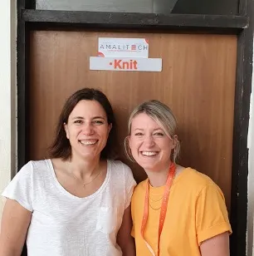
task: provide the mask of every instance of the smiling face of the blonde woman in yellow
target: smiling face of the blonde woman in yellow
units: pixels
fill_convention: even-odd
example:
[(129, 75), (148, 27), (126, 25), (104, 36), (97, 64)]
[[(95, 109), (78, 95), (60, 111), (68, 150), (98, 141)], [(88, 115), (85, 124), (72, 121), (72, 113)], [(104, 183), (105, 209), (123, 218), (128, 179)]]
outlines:
[(131, 123), (129, 147), (134, 160), (145, 171), (160, 171), (169, 168), (175, 142), (154, 119), (140, 113)]

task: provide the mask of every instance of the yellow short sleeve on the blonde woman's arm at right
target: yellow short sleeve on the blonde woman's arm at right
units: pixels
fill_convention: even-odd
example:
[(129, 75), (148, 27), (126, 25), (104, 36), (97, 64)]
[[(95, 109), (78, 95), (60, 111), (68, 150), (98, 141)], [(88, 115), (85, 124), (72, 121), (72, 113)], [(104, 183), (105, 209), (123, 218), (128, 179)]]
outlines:
[(198, 245), (218, 234), (232, 233), (222, 191), (217, 185), (208, 185), (198, 194), (196, 204)]

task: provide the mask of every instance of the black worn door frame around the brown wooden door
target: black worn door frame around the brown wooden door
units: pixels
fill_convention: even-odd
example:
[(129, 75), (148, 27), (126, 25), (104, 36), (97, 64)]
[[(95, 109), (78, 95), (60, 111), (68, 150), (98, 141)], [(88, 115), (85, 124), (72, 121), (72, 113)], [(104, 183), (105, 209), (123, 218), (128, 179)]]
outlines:
[(253, 3), (239, 0), (239, 15), (153, 14), (36, 10), (35, 0), (17, 1), (17, 167), (27, 163), (29, 99), (29, 33), (33, 30), (79, 28), (149, 29), (237, 35), (237, 73), (232, 145), (231, 255), (246, 255), (247, 176), (250, 99), (252, 91)]

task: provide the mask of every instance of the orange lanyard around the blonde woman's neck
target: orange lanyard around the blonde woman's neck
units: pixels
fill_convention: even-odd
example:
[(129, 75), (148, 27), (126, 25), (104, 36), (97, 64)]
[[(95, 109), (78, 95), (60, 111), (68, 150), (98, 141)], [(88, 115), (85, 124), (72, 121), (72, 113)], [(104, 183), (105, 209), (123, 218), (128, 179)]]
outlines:
[[(175, 169), (176, 169), (175, 164), (172, 163), (169, 167), (169, 175), (167, 178), (166, 187), (164, 190), (164, 196), (163, 196), (160, 214), (159, 214), (158, 256), (159, 256), (160, 235), (161, 235), (162, 229), (164, 228), (164, 221), (166, 218), (168, 201), (169, 201), (169, 192), (170, 192), (171, 185), (173, 183)], [(147, 187), (146, 187), (146, 192), (145, 192), (144, 214), (143, 214), (143, 219), (142, 219), (142, 224), (141, 224), (141, 236), (143, 239), (144, 239), (144, 229), (145, 229), (145, 225), (147, 224), (148, 216), (149, 216), (149, 180), (147, 182)], [(153, 256), (155, 256), (156, 254), (154, 253), (154, 250), (152, 249), (152, 247), (148, 244), (148, 242), (145, 239), (144, 239), (144, 242), (145, 242), (146, 246), (148, 247), (149, 251), (151, 252), (151, 254)]]

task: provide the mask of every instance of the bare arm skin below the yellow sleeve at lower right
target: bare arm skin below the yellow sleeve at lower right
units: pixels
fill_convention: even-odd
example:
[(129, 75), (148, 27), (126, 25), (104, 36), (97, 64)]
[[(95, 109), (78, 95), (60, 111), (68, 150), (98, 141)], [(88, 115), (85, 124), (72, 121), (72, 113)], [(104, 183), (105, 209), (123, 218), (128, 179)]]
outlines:
[(224, 232), (211, 239), (203, 241), (200, 245), (202, 256), (229, 256), (229, 234)]

